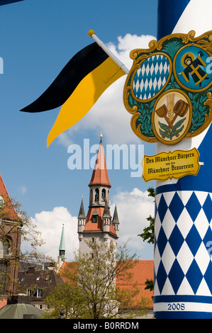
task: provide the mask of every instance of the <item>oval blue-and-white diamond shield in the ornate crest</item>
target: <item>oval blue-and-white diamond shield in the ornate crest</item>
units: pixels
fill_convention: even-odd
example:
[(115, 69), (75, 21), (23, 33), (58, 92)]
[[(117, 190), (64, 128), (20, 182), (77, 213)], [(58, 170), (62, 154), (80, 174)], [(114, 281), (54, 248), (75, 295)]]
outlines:
[(147, 100), (155, 96), (166, 84), (170, 64), (164, 55), (152, 55), (135, 72), (133, 92), (135, 97)]

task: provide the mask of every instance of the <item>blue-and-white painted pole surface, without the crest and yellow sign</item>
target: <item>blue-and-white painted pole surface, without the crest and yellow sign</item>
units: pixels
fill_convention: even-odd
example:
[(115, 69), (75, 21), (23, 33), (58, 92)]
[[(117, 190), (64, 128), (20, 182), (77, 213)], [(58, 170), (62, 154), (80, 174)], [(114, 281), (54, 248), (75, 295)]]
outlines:
[[(159, 0), (157, 39), (171, 33), (187, 34), (191, 30), (198, 37), (212, 30), (211, 16), (212, 3), (208, 0)], [(210, 57), (207, 61), (211, 62)], [(208, 66), (208, 77), (210, 71)], [(201, 112), (200, 104), (197, 115)], [(194, 113), (194, 103), (192, 107)], [(174, 146), (184, 151), (198, 149), (203, 166), (196, 176), (156, 181), (156, 318), (212, 318), (211, 142), (209, 125), (199, 135), (183, 139)], [(157, 153), (169, 149), (170, 146), (157, 143)]]

